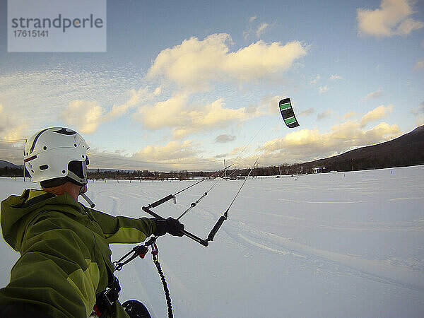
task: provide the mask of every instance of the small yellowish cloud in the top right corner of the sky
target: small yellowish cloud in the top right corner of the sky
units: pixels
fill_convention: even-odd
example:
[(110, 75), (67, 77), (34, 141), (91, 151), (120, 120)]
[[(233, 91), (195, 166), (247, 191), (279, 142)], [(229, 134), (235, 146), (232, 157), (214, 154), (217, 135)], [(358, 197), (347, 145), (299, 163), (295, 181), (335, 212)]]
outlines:
[(413, 30), (424, 27), (423, 21), (410, 16), (415, 13), (411, 0), (382, 0), (375, 10), (357, 9), (358, 32), (360, 35), (391, 37), (409, 35)]

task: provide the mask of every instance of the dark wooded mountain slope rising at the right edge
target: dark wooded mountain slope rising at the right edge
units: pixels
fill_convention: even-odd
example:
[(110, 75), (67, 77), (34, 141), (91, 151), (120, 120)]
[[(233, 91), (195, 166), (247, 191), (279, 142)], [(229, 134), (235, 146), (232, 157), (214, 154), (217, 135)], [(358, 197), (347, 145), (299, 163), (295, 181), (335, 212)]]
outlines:
[(367, 170), (424, 164), (424, 126), (391, 141), (348, 151), (334, 157), (302, 163), (304, 168), (324, 170)]

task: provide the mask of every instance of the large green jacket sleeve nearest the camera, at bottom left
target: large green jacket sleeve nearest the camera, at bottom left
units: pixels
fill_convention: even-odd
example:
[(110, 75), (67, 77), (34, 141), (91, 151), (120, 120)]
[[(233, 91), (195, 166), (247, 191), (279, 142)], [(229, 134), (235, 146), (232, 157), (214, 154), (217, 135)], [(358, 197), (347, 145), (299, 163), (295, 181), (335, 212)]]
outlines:
[(93, 244), (63, 216), (36, 220), (25, 232), (10, 283), (0, 290), (0, 307), (30, 305), (45, 317), (88, 317), (100, 280), (90, 258)]

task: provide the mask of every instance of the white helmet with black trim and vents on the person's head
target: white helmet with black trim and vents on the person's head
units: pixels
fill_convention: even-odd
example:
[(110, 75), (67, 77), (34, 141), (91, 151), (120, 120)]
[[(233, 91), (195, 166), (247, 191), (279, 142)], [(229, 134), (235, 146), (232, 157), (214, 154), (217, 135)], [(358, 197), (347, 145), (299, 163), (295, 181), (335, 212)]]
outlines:
[(25, 143), (23, 162), (33, 182), (54, 179), (57, 182), (53, 185), (65, 180), (84, 185), (87, 183), (88, 148), (83, 137), (72, 129), (47, 128)]

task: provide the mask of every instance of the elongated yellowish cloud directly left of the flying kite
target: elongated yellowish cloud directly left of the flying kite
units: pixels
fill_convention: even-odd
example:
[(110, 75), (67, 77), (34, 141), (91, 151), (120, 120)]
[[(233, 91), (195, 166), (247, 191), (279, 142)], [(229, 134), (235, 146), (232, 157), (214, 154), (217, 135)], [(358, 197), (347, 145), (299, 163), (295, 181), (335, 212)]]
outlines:
[(234, 122), (242, 122), (261, 114), (255, 107), (225, 107), (223, 98), (206, 105), (197, 105), (189, 101), (189, 93), (177, 93), (163, 102), (156, 102), (155, 105), (139, 107), (134, 119), (143, 122), (144, 126), (151, 130), (171, 128), (173, 137), (182, 139), (187, 134), (217, 127), (224, 128)]

